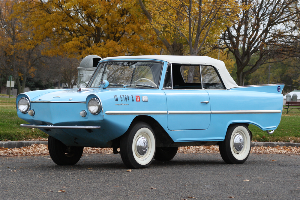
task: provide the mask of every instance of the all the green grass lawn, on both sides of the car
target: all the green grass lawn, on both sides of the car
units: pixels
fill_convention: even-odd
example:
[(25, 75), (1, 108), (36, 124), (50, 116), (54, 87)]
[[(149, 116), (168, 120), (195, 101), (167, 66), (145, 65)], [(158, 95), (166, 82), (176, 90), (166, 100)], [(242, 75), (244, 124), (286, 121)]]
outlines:
[[(26, 140), (38, 137), (47, 138), (48, 135), (41, 130), (22, 128), (20, 124), (26, 124), (26, 121), (20, 119), (16, 114), (16, 99), (0, 98), (0, 139), (1, 140)], [(272, 135), (262, 131), (254, 125), (249, 125), (249, 130), (253, 134), (253, 141), (258, 142), (300, 142), (300, 111), (292, 109), (286, 114), (283, 110), (280, 124)]]

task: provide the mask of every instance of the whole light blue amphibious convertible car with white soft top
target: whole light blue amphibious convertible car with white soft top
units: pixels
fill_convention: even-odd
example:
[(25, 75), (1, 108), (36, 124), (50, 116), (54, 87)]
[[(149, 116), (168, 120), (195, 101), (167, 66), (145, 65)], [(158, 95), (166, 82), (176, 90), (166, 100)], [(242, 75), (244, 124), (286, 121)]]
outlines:
[[(219, 145), (228, 164), (244, 163), (249, 124), (274, 130), (283, 84), (239, 87), (222, 61), (206, 56), (104, 58), (87, 86), (19, 94), (18, 116), (49, 135), (58, 165), (83, 147), (111, 147), (131, 169), (171, 160), (180, 146)], [(120, 148), (120, 151), (117, 151)]]

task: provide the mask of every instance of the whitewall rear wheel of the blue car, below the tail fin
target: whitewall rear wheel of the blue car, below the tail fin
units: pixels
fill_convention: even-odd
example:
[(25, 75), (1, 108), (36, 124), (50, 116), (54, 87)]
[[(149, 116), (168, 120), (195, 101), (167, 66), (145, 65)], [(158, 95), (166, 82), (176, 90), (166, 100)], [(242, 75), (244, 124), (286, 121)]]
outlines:
[(219, 150), (225, 163), (244, 163), (251, 150), (251, 136), (248, 127), (244, 124), (230, 125), (225, 140), (219, 142)]

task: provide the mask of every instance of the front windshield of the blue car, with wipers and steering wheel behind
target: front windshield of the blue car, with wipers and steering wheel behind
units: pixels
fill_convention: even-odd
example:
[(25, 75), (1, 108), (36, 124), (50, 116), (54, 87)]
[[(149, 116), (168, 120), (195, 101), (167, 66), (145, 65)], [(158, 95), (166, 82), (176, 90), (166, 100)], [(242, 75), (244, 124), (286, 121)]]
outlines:
[(101, 63), (87, 87), (99, 87), (101, 80), (108, 87), (158, 88), (163, 63), (151, 61), (111, 61)]

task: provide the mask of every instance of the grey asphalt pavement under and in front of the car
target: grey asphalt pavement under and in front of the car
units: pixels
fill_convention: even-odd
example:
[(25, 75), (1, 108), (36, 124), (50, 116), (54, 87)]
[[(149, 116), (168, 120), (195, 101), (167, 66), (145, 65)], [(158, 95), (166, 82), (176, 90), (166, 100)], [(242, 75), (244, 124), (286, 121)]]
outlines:
[(228, 165), (220, 154), (177, 154), (131, 172), (119, 154), (83, 154), (74, 166), (50, 156), (1, 157), (0, 169), (3, 200), (300, 199), (299, 155), (250, 154)]

